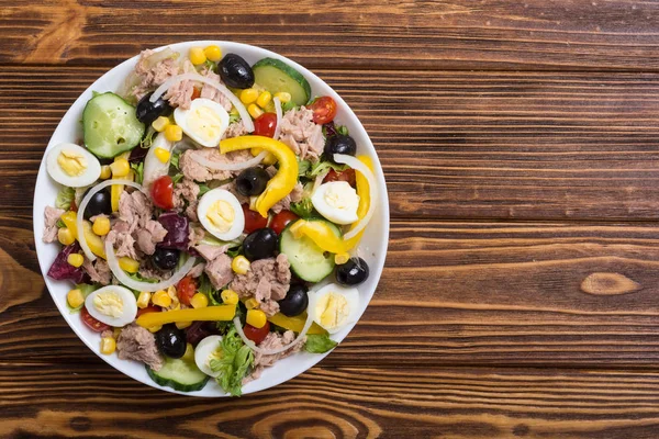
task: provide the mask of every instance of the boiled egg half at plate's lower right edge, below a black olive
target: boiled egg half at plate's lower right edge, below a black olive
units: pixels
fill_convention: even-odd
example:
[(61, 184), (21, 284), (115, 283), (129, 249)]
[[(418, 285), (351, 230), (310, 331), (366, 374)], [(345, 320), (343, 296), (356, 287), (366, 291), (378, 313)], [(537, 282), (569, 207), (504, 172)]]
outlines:
[(327, 333), (338, 333), (347, 325), (357, 322), (359, 315), (359, 292), (331, 283), (310, 294), (308, 312), (313, 320)]

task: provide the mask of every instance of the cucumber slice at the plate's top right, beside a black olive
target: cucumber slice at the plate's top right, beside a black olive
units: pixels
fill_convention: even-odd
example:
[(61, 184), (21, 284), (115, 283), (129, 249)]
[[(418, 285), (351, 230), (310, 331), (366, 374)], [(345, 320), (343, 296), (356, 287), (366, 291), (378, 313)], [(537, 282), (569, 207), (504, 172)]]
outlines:
[(275, 58), (264, 58), (252, 66), (255, 82), (270, 93), (291, 93), (297, 105), (304, 105), (311, 98), (311, 86), (304, 77), (288, 64)]

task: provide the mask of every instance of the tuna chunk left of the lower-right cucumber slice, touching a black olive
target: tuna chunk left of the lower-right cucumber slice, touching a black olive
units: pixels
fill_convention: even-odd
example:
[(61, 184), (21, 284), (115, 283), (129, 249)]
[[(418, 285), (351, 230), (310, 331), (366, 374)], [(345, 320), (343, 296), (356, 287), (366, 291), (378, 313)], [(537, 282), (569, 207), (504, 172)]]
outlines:
[(277, 258), (252, 262), (246, 274), (235, 277), (231, 289), (241, 297), (254, 296), (260, 303), (260, 309), (271, 317), (279, 312), (277, 301), (286, 297), (290, 283), (290, 264), (287, 256), (281, 254)]

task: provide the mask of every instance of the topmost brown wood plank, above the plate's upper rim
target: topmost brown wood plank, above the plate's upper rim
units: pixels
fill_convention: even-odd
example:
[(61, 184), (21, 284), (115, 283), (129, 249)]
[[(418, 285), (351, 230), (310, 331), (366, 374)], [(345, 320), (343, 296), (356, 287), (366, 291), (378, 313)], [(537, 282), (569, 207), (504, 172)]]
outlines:
[[(358, 12), (356, 12), (358, 11)], [(659, 68), (651, 1), (48, 0), (2, 8), (0, 63), (114, 65), (190, 40), (263, 46), (312, 68)], [(255, 32), (258, 23), (258, 32)]]

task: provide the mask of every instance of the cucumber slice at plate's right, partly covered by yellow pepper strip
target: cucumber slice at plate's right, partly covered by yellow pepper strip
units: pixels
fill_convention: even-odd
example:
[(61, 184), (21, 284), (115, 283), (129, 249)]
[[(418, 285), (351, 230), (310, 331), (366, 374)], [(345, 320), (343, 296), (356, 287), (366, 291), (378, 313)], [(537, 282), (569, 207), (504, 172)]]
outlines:
[[(323, 221), (336, 232), (336, 236), (340, 236), (338, 227), (333, 223), (324, 219), (310, 221)], [(334, 271), (334, 254), (326, 254), (306, 236), (295, 239), (290, 230), (293, 224), (289, 223), (281, 233), (279, 251), (288, 257), (291, 270), (298, 278), (308, 282), (320, 282)]]

